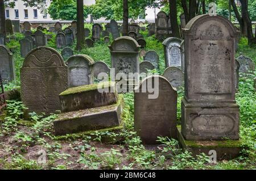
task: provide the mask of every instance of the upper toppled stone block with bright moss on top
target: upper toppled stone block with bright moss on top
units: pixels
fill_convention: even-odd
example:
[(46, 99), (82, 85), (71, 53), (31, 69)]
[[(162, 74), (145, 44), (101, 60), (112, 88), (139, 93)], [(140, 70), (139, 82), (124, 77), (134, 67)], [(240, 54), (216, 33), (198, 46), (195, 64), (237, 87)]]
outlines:
[(102, 82), (69, 88), (59, 98), (62, 111), (70, 112), (115, 104), (118, 94), (115, 82)]

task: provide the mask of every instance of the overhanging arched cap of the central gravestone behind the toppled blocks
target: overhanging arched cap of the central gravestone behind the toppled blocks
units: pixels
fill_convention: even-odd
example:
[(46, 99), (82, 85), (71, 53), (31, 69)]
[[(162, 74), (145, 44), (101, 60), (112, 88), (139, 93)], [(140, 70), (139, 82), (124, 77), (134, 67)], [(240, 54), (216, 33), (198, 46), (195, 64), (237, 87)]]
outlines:
[(129, 36), (121, 36), (115, 39), (109, 46), (111, 52), (139, 52), (141, 46)]

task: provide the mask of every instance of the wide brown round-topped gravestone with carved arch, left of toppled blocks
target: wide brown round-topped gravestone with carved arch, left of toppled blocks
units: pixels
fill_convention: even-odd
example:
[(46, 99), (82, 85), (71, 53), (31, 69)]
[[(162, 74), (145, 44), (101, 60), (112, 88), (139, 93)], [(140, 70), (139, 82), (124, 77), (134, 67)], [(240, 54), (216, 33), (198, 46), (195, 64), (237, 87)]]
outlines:
[(52, 113), (61, 110), (59, 94), (68, 88), (68, 69), (55, 49), (38, 47), (27, 54), (20, 82), (28, 112)]

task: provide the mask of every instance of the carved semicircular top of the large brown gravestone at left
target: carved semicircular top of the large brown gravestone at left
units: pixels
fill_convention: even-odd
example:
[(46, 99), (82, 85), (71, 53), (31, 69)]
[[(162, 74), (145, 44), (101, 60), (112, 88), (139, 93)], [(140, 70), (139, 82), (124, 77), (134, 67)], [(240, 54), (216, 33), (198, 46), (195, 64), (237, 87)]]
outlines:
[(32, 49), (23, 62), (22, 68), (46, 67), (46, 66), (66, 66), (63, 58), (53, 48), (38, 47)]

